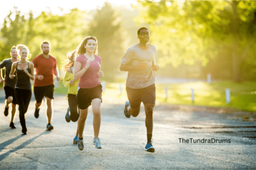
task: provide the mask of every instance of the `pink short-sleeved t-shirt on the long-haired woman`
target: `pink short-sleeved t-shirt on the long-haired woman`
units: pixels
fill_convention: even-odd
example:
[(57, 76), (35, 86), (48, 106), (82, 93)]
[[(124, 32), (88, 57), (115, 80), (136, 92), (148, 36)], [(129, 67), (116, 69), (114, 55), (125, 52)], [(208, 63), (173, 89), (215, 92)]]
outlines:
[[(98, 71), (101, 70), (101, 57), (94, 55), (94, 61), (90, 62), (90, 67), (86, 70), (85, 74), (80, 77), (79, 87), (80, 88), (93, 88), (100, 84), (98, 79)], [(81, 63), (81, 69), (85, 67), (88, 59), (82, 54), (76, 58), (76, 62)]]

